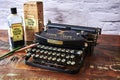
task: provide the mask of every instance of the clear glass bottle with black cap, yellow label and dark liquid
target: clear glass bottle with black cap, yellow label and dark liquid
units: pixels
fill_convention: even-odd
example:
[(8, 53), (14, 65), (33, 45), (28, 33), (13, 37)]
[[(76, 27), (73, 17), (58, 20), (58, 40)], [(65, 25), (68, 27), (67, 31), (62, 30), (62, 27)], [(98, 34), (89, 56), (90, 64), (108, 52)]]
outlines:
[(10, 50), (24, 46), (23, 20), (22, 17), (17, 14), (17, 8), (11, 8), (11, 14), (8, 16), (7, 21), (9, 26), (8, 36)]

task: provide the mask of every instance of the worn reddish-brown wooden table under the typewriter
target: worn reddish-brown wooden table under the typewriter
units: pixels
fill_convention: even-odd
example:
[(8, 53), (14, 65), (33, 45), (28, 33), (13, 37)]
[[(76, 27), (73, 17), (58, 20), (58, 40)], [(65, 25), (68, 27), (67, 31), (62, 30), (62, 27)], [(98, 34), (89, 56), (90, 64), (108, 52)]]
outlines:
[[(8, 42), (7, 31), (0, 31), (0, 40)], [(0, 80), (120, 80), (120, 36), (100, 35), (98, 43), (78, 74), (27, 66), (22, 51), (0, 61)], [(0, 54), (6, 52), (8, 50), (0, 50)], [(17, 60), (11, 61), (13, 57)]]

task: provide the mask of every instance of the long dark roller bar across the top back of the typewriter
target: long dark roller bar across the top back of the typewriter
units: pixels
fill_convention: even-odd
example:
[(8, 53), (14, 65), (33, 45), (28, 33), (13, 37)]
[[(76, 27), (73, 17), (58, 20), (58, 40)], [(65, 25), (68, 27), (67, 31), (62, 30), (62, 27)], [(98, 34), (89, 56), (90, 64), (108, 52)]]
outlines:
[(75, 30), (75, 31), (84, 31), (92, 34), (101, 34), (101, 28), (95, 27), (86, 27), (86, 26), (75, 26), (75, 25), (67, 25), (67, 24), (58, 24), (58, 23), (51, 23), (47, 24), (48, 28), (57, 28), (63, 30)]

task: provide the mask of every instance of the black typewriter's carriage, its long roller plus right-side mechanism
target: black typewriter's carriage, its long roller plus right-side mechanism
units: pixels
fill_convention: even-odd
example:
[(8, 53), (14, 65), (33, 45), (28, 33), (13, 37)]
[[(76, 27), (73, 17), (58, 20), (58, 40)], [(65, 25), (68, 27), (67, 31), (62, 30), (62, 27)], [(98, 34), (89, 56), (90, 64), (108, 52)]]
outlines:
[(76, 26), (67, 24), (52, 23), (50, 20), (47, 24), (47, 29), (57, 28), (60, 30), (75, 30), (80, 33), (80, 35), (85, 39), (87, 47), (85, 49), (86, 56), (93, 55), (94, 46), (97, 45), (98, 36), (101, 34), (101, 28), (86, 27), (86, 26)]

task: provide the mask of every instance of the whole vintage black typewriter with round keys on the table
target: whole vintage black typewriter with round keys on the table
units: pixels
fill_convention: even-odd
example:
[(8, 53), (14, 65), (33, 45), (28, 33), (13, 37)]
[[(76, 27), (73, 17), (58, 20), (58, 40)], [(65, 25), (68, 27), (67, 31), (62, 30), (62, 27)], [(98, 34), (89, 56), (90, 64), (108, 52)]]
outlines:
[(93, 54), (100, 28), (49, 22), (47, 30), (35, 34), (36, 46), (26, 50), (27, 65), (78, 73), (86, 56)]

